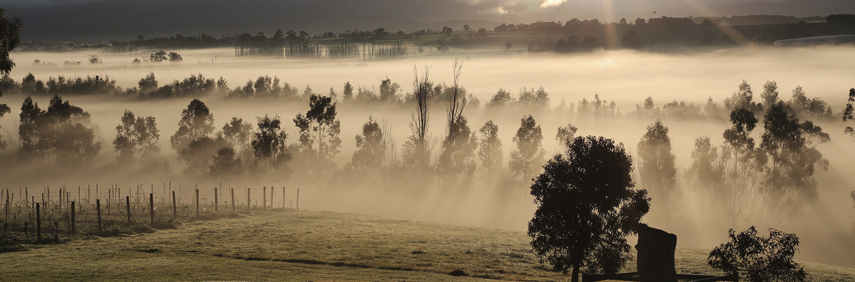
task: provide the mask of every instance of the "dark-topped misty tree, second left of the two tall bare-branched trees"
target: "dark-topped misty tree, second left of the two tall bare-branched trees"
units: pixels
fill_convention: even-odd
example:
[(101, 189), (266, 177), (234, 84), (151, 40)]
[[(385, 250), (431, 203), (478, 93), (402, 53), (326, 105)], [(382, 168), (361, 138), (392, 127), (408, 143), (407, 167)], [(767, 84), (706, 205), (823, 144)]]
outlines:
[(330, 97), (312, 94), (309, 108), (305, 115), (294, 118), (300, 130), (300, 148), (320, 160), (331, 161), (341, 147), (341, 121), (336, 119), (335, 103)]

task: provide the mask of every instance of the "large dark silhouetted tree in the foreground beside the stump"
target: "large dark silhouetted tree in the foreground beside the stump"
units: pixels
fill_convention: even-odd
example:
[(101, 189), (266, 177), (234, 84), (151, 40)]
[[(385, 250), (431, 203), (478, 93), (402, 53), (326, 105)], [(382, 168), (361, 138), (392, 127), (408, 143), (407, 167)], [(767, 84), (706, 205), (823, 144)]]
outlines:
[(535, 254), (563, 273), (582, 267), (617, 273), (628, 260), (627, 236), (637, 232), (650, 209), (647, 191), (634, 189), (632, 161), (622, 144), (602, 137), (577, 137), (534, 179), (537, 209), (528, 222)]

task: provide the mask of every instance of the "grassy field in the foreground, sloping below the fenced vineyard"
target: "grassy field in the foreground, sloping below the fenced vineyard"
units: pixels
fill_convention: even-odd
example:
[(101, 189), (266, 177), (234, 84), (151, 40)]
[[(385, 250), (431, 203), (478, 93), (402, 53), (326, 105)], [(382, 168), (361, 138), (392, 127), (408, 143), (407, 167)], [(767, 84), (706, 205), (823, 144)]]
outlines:
[[(363, 214), (286, 211), (199, 220), (177, 229), (79, 238), (0, 255), (0, 280), (566, 280), (510, 232)], [(709, 250), (678, 248), (678, 273), (718, 274)], [(810, 281), (855, 269), (802, 262)], [(631, 261), (627, 271), (632, 271)], [(463, 274), (452, 276), (451, 273)]]

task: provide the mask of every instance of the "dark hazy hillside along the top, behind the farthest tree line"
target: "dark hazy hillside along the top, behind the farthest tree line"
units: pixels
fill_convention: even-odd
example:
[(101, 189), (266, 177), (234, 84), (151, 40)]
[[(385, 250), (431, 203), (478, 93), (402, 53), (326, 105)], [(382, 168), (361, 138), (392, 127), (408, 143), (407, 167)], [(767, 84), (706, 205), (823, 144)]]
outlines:
[[(720, 4), (701, 1), (710, 10), (699, 11), (680, 0), (614, 0), (615, 19), (636, 17), (793, 15), (826, 16), (855, 14), (852, 0), (741, 1)], [(359, 28), (415, 32), (425, 28), (455, 30), (500, 23), (568, 21), (572, 18), (605, 21), (603, 6), (596, 2), (568, 1), (557, 8), (498, 14), (486, 10), (489, 3), (470, 0), (0, 0), (6, 15), (24, 20), (21, 37), (39, 41), (133, 40), (178, 33), (196, 35), (244, 32), (273, 33), (276, 29), (344, 32)], [(653, 14), (653, 11), (658, 11)]]

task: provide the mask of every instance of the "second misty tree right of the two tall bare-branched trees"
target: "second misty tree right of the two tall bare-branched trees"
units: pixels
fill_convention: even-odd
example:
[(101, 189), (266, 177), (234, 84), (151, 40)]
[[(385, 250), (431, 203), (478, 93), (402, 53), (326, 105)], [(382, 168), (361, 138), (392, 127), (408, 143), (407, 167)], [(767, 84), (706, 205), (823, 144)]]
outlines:
[(516, 130), (514, 143), (516, 150), (510, 152), (510, 175), (514, 179), (528, 181), (536, 175), (543, 162), (546, 151), (543, 150), (543, 132), (531, 115), (520, 120), (520, 128)]

